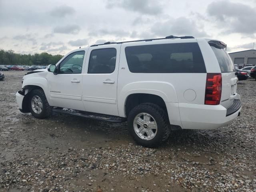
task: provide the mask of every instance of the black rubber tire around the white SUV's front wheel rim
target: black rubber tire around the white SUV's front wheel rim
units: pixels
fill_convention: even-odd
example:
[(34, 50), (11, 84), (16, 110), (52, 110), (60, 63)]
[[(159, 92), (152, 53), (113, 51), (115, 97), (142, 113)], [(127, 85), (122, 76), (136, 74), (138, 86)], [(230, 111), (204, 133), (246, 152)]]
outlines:
[[(40, 112), (40, 114), (35, 113), (32, 109), (31, 100), (33, 96), (38, 96), (42, 100), (42, 112)], [(32, 116), (34, 116), (35, 118), (45, 119), (52, 115), (52, 106), (48, 104), (44, 91), (41, 89), (32, 90), (30, 92), (30, 99), (28, 104), (29, 104), (30, 112)]]

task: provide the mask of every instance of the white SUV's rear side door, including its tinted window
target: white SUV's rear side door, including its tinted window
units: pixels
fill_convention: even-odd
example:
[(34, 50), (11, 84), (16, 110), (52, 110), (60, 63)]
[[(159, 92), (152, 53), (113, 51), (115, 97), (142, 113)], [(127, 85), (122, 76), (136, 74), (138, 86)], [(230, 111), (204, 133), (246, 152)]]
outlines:
[(90, 47), (83, 74), (83, 102), (86, 111), (118, 116), (117, 76), (120, 44)]

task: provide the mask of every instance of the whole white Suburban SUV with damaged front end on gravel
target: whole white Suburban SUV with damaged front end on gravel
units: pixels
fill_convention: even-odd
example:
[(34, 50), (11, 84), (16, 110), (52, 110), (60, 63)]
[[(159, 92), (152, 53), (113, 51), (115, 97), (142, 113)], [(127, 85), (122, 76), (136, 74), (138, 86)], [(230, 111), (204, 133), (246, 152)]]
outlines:
[(55, 111), (127, 120), (134, 140), (153, 147), (170, 130), (216, 129), (240, 115), (238, 79), (224, 48), (191, 36), (92, 45), (28, 72), (16, 99), (35, 118)]

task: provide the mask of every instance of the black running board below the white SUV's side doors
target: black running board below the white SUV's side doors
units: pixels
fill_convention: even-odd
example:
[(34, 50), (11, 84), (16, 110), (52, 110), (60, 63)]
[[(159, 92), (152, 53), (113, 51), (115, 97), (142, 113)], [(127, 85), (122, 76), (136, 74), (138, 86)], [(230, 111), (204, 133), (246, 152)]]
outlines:
[(126, 118), (122, 118), (118, 116), (97, 114), (92, 112), (80, 112), (80, 111), (70, 110), (70, 109), (64, 110), (62, 108), (53, 108), (52, 111), (57, 113), (64, 113), (64, 114), (75, 115), (75, 116), (80, 116), (80, 117), (85, 117), (85, 118), (90, 118), (90, 119), (95, 119), (100, 121), (107, 121), (112, 123), (122, 123), (126, 121)]

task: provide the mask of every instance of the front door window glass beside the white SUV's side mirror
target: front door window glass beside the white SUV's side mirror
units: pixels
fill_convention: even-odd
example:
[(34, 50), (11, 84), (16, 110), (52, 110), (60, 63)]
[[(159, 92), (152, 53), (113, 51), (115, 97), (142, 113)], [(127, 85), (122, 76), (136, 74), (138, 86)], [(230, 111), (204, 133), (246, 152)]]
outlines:
[(60, 74), (79, 74), (82, 73), (85, 51), (78, 51), (68, 55), (60, 63)]

